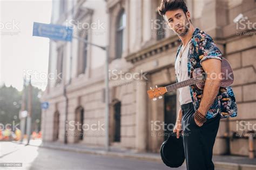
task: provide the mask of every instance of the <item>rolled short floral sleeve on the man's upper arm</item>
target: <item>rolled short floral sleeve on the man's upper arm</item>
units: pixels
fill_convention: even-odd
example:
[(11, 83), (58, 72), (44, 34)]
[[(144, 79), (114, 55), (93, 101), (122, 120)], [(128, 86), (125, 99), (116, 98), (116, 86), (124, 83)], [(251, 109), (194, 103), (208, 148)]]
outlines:
[(201, 40), (199, 54), (200, 64), (209, 58), (222, 59), (221, 52), (211, 37), (205, 37)]

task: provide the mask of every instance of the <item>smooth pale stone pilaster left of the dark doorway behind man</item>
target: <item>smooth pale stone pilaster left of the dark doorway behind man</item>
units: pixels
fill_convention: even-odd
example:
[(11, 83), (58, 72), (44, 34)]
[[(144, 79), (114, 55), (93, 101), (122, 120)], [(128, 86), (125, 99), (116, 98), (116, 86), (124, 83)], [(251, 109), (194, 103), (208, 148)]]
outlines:
[(138, 152), (146, 151), (146, 97), (147, 86), (144, 80), (137, 81), (136, 89), (136, 149)]

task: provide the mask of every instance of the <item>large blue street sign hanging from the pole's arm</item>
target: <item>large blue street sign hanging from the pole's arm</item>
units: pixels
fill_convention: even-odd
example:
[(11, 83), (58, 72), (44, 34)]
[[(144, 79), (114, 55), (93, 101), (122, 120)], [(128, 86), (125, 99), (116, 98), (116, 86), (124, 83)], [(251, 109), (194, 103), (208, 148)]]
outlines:
[(33, 23), (33, 36), (71, 42), (73, 29), (69, 26)]

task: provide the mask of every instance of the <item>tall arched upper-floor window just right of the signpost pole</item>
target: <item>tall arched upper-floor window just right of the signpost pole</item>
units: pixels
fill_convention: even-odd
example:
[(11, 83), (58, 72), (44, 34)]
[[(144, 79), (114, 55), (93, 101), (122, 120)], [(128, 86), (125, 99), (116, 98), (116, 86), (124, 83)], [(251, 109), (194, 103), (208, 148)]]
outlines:
[(117, 19), (117, 32), (116, 32), (116, 58), (121, 58), (125, 46), (125, 26), (126, 26), (126, 15), (124, 10), (120, 12)]

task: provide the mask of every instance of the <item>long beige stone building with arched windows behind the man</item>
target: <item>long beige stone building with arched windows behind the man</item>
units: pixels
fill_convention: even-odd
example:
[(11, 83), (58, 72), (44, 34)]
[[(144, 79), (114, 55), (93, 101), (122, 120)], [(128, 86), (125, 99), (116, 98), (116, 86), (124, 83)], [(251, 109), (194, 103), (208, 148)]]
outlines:
[[(256, 53), (256, 2), (186, 2), (193, 25), (212, 36), (231, 63), (235, 77), (232, 86), (238, 116), (221, 120), (214, 154), (248, 155), (248, 138), (236, 134), (248, 132), (247, 126), (246, 130), (240, 130), (242, 124), (256, 123), (253, 90), (256, 86), (256, 59), (253, 56)], [(64, 25), (74, 19), (78, 21), (74, 36), (98, 45), (109, 45), (109, 137), (112, 147), (159, 152), (168, 130), (156, 127), (163, 123), (174, 124), (177, 118), (178, 91), (169, 92), (157, 101), (149, 100), (146, 92), (155, 85), (176, 82), (174, 57), (180, 42), (158, 15), (159, 4), (157, 0), (53, 1), (53, 24)], [(237, 17), (240, 13), (252, 23), (251, 26), (244, 26), (242, 17)], [(233, 22), (236, 17), (240, 19), (238, 23)], [(104, 23), (104, 26), (81, 29), (80, 23)], [(42, 99), (50, 103), (49, 109), (42, 112), (44, 141), (65, 141), (65, 107), (69, 121), (97, 124), (97, 127), (104, 124), (105, 57), (104, 51), (77, 39), (72, 43), (50, 41), (49, 73), (57, 70), (57, 73), (62, 72), (62, 77), (53, 80), (53, 84), (49, 80)], [(84, 135), (70, 135), (75, 132)], [(79, 131), (76, 127), (68, 134), (68, 143), (104, 146), (105, 132), (101, 128)]]

